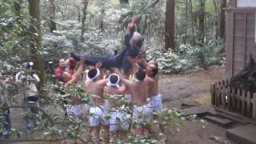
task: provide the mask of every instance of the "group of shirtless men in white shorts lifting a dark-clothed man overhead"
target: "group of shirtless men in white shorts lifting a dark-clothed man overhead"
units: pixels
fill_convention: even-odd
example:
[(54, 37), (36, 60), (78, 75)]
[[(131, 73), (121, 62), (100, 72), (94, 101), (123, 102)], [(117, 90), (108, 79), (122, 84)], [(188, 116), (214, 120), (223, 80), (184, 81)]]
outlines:
[[(135, 22), (137, 17), (132, 18), (132, 22), (128, 24), (127, 33), (125, 35), (126, 48), (118, 55), (110, 55), (107, 57), (92, 57), (87, 55), (78, 55), (71, 53), (68, 63), (72, 68), (75, 67), (74, 61), (80, 61), (76, 72), (65, 69), (65, 60), (61, 59), (58, 69), (55, 71), (59, 81), (65, 83), (65, 86), (76, 85), (79, 76), (84, 71), (84, 66), (89, 69), (84, 71), (83, 87), (86, 93), (95, 95), (90, 99), (93, 106), (86, 106), (90, 112), (90, 128), (94, 134), (94, 142), (99, 143), (99, 134), (101, 127), (104, 129), (104, 138), (106, 142), (116, 142), (116, 138), (120, 136), (126, 141), (127, 131), (130, 130), (131, 123), (126, 122), (126, 118), (130, 115), (133, 122), (143, 115), (146, 119), (158, 118), (157, 113), (162, 110), (162, 96), (158, 91), (158, 63), (154, 61), (146, 61), (145, 54), (142, 51), (142, 43), (144, 37), (136, 32)], [(106, 73), (103, 73), (103, 69)], [(72, 69), (74, 70), (74, 69)], [(114, 95), (115, 97), (124, 97), (127, 101), (133, 102), (134, 107), (131, 112), (114, 111), (110, 112), (110, 108), (116, 106), (115, 102), (108, 102), (104, 95)], [(75, 99), (75, 98), (74, 98)], [(148, 99), (150, 101), (148, 102)], [(82, 114), (82, 105), (78, 100), (72, 100), (69, 107), (70, 114)], [(110, 115), (110, 119), (106, 118)], [(163, 131), (163, 127), (160, 126)], [(135, 133), (142, 135), (149, 132), (154, 134), (150, 125), (143, 125), (136, 122)]]

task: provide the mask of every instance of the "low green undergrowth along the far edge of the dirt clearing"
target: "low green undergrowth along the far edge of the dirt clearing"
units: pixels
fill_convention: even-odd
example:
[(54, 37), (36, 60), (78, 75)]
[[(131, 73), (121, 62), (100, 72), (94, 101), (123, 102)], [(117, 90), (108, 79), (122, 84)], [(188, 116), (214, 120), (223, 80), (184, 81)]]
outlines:
[(159, 63), (159, 69), (163, 73), (178, 73), (198, 68), (202, 66), (202, 58), (206, 60), (205, 66), (220, 65), (224, 58), (223, 53), (223, 40), (209, 41), (204, 46), (180, 45), (175, 53), (172, 51), (162, 53), (154, 48), (146, 51), (148, 58)]

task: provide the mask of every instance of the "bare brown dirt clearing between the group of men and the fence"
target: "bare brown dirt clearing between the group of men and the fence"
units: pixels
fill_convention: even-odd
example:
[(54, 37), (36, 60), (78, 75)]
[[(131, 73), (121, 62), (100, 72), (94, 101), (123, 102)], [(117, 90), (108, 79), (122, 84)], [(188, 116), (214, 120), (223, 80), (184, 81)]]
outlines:
[(224, 70), (206, 70), (190, 74), (163, 75), (159, 89), (166, 107), (180, 107), (182, 102), (210, 105), (210, 84), (224, 78)]

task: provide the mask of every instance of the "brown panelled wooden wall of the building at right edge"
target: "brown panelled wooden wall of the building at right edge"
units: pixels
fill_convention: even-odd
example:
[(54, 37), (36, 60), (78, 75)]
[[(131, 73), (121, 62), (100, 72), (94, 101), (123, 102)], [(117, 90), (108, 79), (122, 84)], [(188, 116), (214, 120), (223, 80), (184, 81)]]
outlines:
[(250, 54), (256, 60), (255, 8), (226, 9), (226, 78), (243, 70)]

